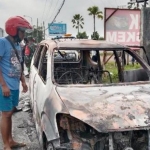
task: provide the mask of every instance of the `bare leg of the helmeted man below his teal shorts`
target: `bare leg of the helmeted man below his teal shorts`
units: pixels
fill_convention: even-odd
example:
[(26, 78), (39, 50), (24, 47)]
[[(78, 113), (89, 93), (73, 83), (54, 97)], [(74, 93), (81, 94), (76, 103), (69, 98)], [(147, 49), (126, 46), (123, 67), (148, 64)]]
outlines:
[(1, 133), (2, 139), (4, 142), (4, 150), (11, 150), (11, 145), (9, 142), (9, 138), (11, 135), (11, 128), (12, 128), (12, 111), (10, 112), (2, 112), (2, 119), (1, 119)]

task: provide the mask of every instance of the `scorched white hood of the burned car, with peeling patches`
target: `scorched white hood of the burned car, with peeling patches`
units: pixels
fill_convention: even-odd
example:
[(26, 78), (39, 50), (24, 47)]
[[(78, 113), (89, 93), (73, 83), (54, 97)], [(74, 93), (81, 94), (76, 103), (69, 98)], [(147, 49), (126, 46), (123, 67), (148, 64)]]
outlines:
[(56, 90), (71, 116), (99, 132), (150, 127), (150, 84)]

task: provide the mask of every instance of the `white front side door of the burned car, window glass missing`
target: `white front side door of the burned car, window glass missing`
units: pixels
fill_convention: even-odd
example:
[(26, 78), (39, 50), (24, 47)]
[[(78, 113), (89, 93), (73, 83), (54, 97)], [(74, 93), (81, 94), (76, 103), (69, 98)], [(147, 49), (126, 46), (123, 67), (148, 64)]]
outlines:
[(36, 74), (34, 77), (34, 114), (39, 127), (41, 125), (40, 116), (43, 111), (44, 103), (46, 98), (49, 96), (49, 88), (47, 86), (47, 70), (49, 68), (47, 67), (49, 58), (48, 54), (48, 47), (44, 46), (39, 60), (38, 74)]

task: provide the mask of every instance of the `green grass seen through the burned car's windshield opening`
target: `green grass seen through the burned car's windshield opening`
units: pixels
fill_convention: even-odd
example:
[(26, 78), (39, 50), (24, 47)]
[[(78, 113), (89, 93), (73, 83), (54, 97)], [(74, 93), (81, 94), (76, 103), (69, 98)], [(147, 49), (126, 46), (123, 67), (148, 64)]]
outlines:
[[(124, 67), (124, 70), (133, 70), (133, 69), (139, 69), (139, 68), (141, 68), (141, 66), (139, 64), (134, 64), (134, 66), (132, 64), (129, 64)], [(114, 62), (107, 63), (105, 65), (105, 70), (110, 72), (113, 83), (119, 82), (118, 68), (117, 68), (117, 66), (115, 66)], [(103, 83), (110, 83), (110, 79), (107, 75), (103, 76), (102, 81), (103, 81)]]

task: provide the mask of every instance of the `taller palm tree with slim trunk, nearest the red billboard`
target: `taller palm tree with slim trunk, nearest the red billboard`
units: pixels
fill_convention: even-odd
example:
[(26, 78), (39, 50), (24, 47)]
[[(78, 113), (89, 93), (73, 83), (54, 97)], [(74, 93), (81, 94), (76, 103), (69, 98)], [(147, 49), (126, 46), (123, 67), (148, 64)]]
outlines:
[(89, 11), (89, 15), (93, 16), (94, 19), (94, 33), (95, 33), (95, 19), (96, 17), (99, 19), (103, 19), (103, 15), (102, 15), (103, 13), (102, 11), (99, 10), (97, 6), (89, 7), (88, 11)]

